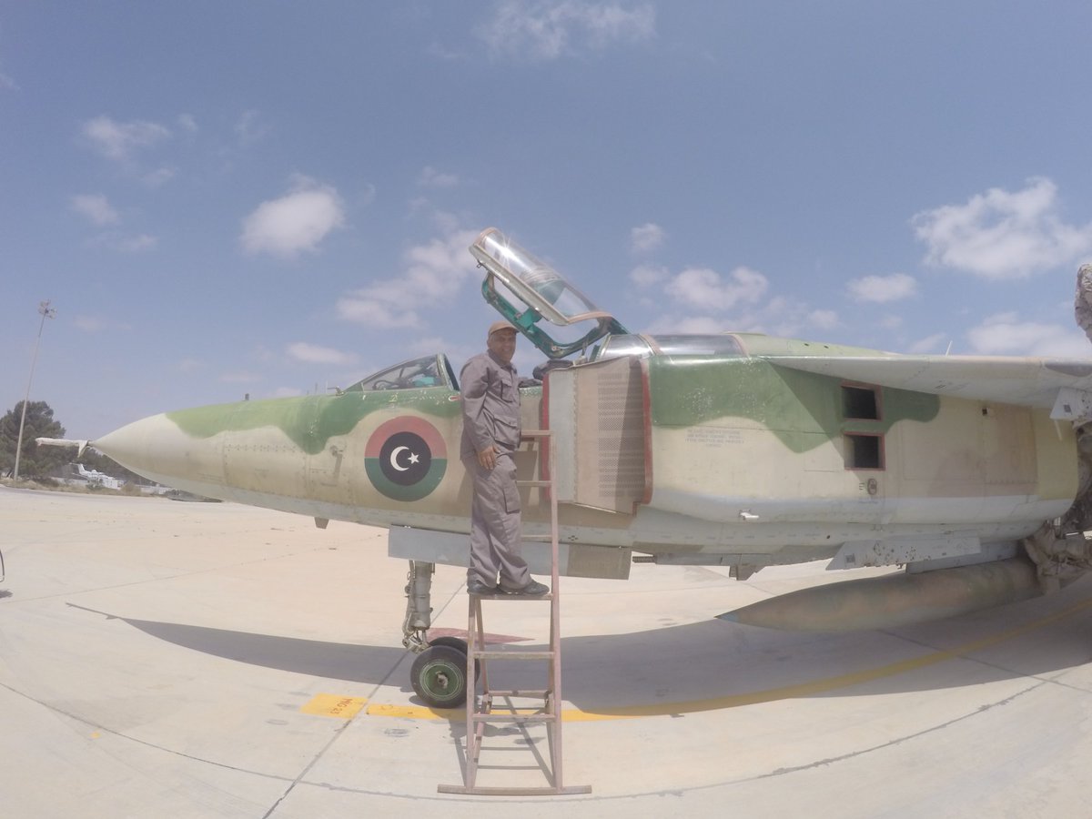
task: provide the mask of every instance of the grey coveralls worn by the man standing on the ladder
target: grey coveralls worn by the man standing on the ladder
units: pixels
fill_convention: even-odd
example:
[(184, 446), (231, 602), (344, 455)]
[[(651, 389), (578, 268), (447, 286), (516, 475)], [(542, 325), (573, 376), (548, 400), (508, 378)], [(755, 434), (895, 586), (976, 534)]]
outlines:
[[(466, 580), (512, 591), (531, 582), (520, 554), (520, 492), (512, 452), (520, 446), (520, 379), (515, 367), (492, 353), (471, 358), (460, 376), (463, 437), (459, 458), (474, 480), (471, 507), (471, 568)], [(497, 465), (487, 470), (477, 453), (494, 446)]]

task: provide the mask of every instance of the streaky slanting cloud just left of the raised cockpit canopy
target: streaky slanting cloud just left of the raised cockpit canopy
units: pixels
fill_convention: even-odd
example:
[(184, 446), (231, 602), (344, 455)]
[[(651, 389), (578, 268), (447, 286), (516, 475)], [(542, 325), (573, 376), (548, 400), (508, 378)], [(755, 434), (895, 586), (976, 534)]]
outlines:
[(473, 230), (450, 230), (438, 239), (411, 248), (403, 272), (353, 290), (337, 300), (337, 316), (376, 328), (418, 327), (414, 308), (438, 305), (455, 296), (477, 262), (466, 248)]

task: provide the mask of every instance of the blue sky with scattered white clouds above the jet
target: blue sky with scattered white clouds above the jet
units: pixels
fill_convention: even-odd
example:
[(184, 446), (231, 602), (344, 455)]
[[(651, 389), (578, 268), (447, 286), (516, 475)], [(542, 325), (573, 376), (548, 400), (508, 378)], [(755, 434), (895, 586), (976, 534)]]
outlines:
[[(0, 410), (71, 437), (629, 329), (1087, 356), (1087, 2), (0, 3)], [(517, 364), (539, 360), (523, 343)]]

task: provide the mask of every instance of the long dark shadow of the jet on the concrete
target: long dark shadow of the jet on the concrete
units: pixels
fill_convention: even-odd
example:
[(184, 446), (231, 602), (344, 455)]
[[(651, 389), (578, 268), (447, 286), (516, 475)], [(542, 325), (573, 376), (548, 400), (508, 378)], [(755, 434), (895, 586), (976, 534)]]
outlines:
[[(634, 633), (562, 638), (562, 693), (577, 708), (594, 713), (679, 713), (1049, 675), (1092, 661), (1090, 604), (1092, 590), (1076, 595), (1067, 590), (1049, 598), (885, 632), (774, 631), (710, 619)], [(116, 619), (155, 639), (225, 660), (411, 691), (410, 655), (396, 646)], [(1024, 651), (1021, 644), (1019, 663), (989, 654), (1018, 640), (1034, 646)], [(960, 658), (971, 662), (956, 664)], [(907, 665), (907, 660), (915, 662)], [(490, 664), (494, 688), (541, 688), (545, 674), (545, 663)]]

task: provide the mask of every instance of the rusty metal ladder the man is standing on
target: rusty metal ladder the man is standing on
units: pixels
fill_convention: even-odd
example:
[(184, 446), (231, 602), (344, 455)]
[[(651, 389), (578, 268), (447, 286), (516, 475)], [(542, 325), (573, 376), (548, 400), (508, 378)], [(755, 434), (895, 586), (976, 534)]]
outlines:
[[(538, 443), (539, 465), (543, 465), (543, 443), (546, 444), (548, 459), (545, 465), (554, 468), (554, 437), (548, 429), (525, 430), (523, 440)], [(470, 617), (466, 629), (466, 781), (462, 785), (439, 785), (438, 791), (444, 794), (475, 794), (479, 796), (556, 796), (568, 794), (591, 793), (591, 785), (565, 786), (561, 776), (561, 626), (560, 626), (560, 589), (557, 571), (557, 494), (549, 473), (539, 471), (541, 479), (517, 480), (519, 486), (532, 486), (544, 489), (549, 495), (550, 534), (550, 591), (536, 597), (522, 597), (511, 594), (472, 594), (470, 595)], [(525, 541), (547, 539), (524, 537)], [(482, 616), (482, 601), (506, 602), (549, 602), (549, 649), (547, 651), (490, 651), (485, 645), (485, 627)], [(489, 661), (546, 661), (549, 667), (549, 681), (544, 690), (500, 690), (489, 687)], [(480, 668), (480, 698), (476, 693), (475, 666)], [(534, 713), (518, 709), (513, 699), (542, 699), (543, 708)], [(505, 703), (498, 702), (505, 700)], [(482, 753), (482, 740), (488, 723), (514, 723), (518, 725), (544, 724), (549, 744), (549, 765), (546, 771), (550, 784), (541, 787), (484, 787), (477, 784), (478, 763)], [(533, 745), (530, 746), (534, 748)]]

